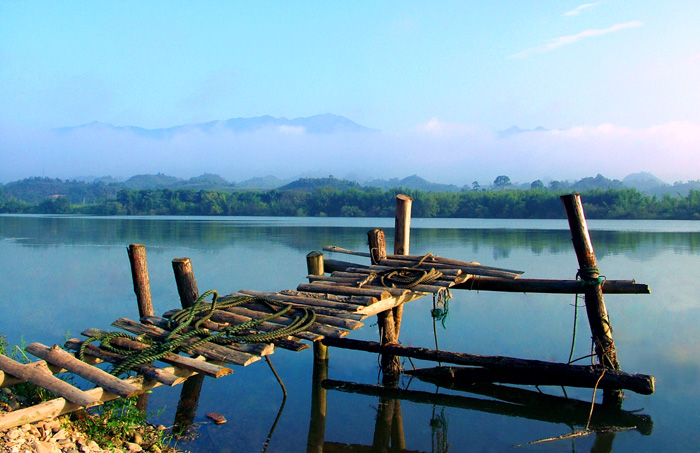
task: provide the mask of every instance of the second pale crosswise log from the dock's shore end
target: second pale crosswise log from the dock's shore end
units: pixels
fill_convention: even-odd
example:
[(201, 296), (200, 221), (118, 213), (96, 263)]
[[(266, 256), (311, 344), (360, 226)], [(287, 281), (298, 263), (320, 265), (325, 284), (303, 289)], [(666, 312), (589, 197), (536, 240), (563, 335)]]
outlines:
[(76, 359), (75, 356), (59, 348), (58, 345), (49, 347), (41, 343), (31, 343), (27, 345), (25, 350), (40, 359), (59, 365), (95, 385), (99, 385), (110, 393), (124, 398), (131, 398), (139, 393), (138, 389), (133, 385), (125, 384), (118, 377)]

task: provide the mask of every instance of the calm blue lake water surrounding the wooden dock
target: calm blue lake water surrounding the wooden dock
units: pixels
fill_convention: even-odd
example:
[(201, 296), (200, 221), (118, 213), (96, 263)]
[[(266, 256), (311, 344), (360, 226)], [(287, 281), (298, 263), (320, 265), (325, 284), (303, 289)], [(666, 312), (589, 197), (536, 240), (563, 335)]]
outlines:
[[(412, 226), (414, 254), (430, 252), (520, 269), (528, 278), (567, 279), (576, 274), (565, 221), (414, 219)], [(126, 254), (130, 243), (147, 246), (154, 306), (162, 313), (179, 304), (170, 264), (175, 257), (192, 259), (200, 292), (293, 289), (304, 281), (309, 251), (324, 245), (365, 250), (366, 232), (375, 227), (384, 228), (387, 238), (393, 236), (392, 219), (0, 216), (4, 298), (0, 333), (13, 344), (24, 339), (51, 345), (67, 335), (79, 336), (88, 327), (108, 329), (118, 317), (136, 318)], [(400, 403), (408, 450), (444, 451), (446, 445), (450, 451), (700, 450), (700, 224), (591, 221), (589, 227), (603, 275), (636, 279), (652, 289), (651, 295), (607, 295), (606, 304), (622, 368), (657, 379), (656, 394), (627, 392), (623, 409), (646, 414), (653, 427), (516, 447), (571, 432), (572, 422), (519, 410), (504, 415), (489, 397), (438, 391), (417, 380), (404, 380), (402, 388), (459, 395), (450, 399), (454, 404), (442, 401), (447, 405)], [(453, 295), (447, 327), (438, 328), (441, 349), (568, 359), (573, 296), (465, 291)], [(431, 306), (432, 301), (424, 298), (406, 307), (404, 344), (435, 346)], [(589, 331), (583, 310), (579, 315), (575, 355), (583, 356), (590, 348)], [(352, 337), (376, 340), (372, 322), (368, 320)], [(375, 355), (336, 349), (330, 353), (329, 378), (378, 383)], [(289, 397), (268, 451), (306, 451), (312, 353), (278, 351), (272, 360)], [(180, 388), (153, 392), (151, 409), (165, 408), (153, 416), (154, 422), (172, 424)], [(564, 395), (561, 388), (540, 390)], [(592, 391), (569, 388), (566, 394), (590, 401)], [(263, 362), (236, 367), (226, 378), (206, 379), (195, 417), (197, 437), (181, 446), (193, 452), (260, 451), (281, 402), (280, 388)], [(535, 409), (549, 404), (534, 403)], [(329, 390), (325, 441), (372, 445), (375, 424), (379, 426), (377, 411), (384, 413), (385, 407), (386, 401), (377, 396)], [(228, 423), (209, 423), (205, 414), (212, 411), (224, 414)]]

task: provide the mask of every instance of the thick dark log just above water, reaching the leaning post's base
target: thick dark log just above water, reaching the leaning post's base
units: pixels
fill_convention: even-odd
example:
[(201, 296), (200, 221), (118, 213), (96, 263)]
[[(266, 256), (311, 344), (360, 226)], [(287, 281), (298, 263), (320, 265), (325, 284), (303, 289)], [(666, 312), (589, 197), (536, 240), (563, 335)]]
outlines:
[[(528, 383), (530, 384), (546, 385), (548, 382), (554, 381), (551, 385), (593, 387), (602, 374), (602, 369), (597, 367), (568, 365), (565, 363), (553, 363), (541, 360), (435, 351), (425, 348), (409, 348), (394, 344), (382, 346), (373, 341), (350, 339), (324, 339), (323, 342), (327, 346), (335, 346), (344, 349), (393, 354), (401, 357), (412, 357), (434, 362), (484, 367), (492, 372), (491, 376), (497, 377), (496, 380), (505, 379), (506, 375), (504, 373), (510, 373), (511, 379), (517, 379), (519, 376), (522, 376), (522, 379), (527, 377), (529, 380)], [(410, 374), (412, 372), (406, 373)], [(477, 376), (479, 371), (472, 371), (472, 373)], [(485, 371), (482, 373), (483, 378), (480, 380), (483, 381), (488, 373)], [(645, 374), (628, 374), (619, 370), (606, 370), (598, 387), (623, 388), (642, 395), (650, 395), (654, 393), (654, 377)]]

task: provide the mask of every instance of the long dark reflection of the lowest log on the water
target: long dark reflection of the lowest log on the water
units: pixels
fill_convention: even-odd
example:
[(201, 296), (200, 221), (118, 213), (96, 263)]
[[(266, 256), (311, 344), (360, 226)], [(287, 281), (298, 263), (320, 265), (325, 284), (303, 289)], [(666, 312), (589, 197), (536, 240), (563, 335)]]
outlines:
[[(490, 385), (503, 389), (496, 393), (496, 398), (507, 398), (503, 393), (511, 388)], [(573, 426), (586, 426), (591, 429), (610, 427), (636, 428), (642, 434), (651, 434), (653, 423), (648, 415), (635, 414), (611, 408), (601, 404), (593, 406), (593, 416), (590, 416), (591, 402), (577, 401), (570, 398), (555, 397), (536, 392), (529, 392), (527, 404), (523, 401), (494, 401), (493, 399), (473, 398), (454, 394), (441, 394), (424, 392), (420, 390), (404, 390), (401, 388), (387, 388), (378, 385), (357, 384), (354, 382), (336, 381), (326, 379), (323, 387), (328, 390), (336, 390), (347, 393), (359, 393), (363, 395), (395, 398), (405, 401), (413, 401), (420, 404), (434, 404), (438, 406), (457, 407), (480, 412), (506, 415), (509, 417), (527, 418), (530, 420), (544, 421), (548, 423), (566, 424)], [(474, 384), (476, 392), (482, 394), (483, 384)], [(483, 392), (486, 393), (486, 392)]]

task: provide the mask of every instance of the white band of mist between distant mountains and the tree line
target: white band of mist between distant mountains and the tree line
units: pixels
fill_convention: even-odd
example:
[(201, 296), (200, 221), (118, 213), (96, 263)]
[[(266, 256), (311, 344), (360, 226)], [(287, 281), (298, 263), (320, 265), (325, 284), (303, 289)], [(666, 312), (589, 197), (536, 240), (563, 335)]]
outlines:
[(417, 174), (459, 186), (576, 180), (600, 173), (621, 179), (648, 171), (667, 181), (698, 175), (700, 126), (615, 125), (523, 132), (506, 138), (476, 126), (432, 119), (400, 132), (309, 134), (299, 128), (234, 133), (191, 129), (154, 139), (111, 128), (70, 132), (0, 129), (0, 182), (31, 176), (128, 178), (215, 173), (229, 181), (274, 175), (362, 179)]

